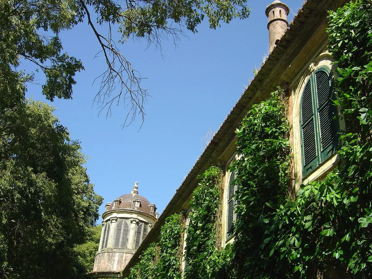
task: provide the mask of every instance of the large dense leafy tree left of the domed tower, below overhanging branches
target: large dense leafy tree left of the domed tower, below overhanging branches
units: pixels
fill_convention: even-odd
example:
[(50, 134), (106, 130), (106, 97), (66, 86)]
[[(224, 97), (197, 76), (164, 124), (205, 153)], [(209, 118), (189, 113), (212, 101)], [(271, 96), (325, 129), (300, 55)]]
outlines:
[(102, 198), (54, 109), (14, 93), (0, 102), (0, 278), (73, 278)]

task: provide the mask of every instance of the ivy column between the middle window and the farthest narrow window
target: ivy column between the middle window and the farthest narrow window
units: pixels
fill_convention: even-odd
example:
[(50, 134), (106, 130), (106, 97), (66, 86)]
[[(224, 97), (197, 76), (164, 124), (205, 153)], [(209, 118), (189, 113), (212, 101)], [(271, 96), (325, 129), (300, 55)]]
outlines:
[(222, 230), (218, 222), (222, 204), (222, 171), (212, 166), (198, 179), (201, 181), (190, 201), (186, 228), (185, 279), (216, 278), (227, 260), (226, 251), (220, 251), (218, 234)]

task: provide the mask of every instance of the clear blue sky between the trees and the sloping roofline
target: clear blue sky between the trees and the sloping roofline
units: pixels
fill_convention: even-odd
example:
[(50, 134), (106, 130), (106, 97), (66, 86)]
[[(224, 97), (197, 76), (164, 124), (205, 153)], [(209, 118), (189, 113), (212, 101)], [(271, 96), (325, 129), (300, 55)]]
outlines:
[[(287, 0), (291, 21), (301, 0)], [(85, 71), (76, 76), (72, 100), (55, 100), (55, 115), (67, 126), (71, 138), (80, 140), (90, 157), (86, 167), (95, 191), (106, 202), (129, 193), (138, 181), (139, 193), (162, 212), (205, 147), (205, 137), (218, 130), (248, 85), (252, 70), (268, 52), (265, 8), (271, 1), (248, 0), (246, 20), (233, 20), (216, 30), (208, 21), (173, 40), (163, 41), (162, 54), (146, 41), (128, 40), (119, 45), (132, 67), (147, 77), (142, 86), (152, 97), (140, 118), (122, 129), (122, 103), (106, 119), (93, 99), (99, 90), (94, 78), (105, 71), (99, 45), (86, 22), (61, 33), (64, 51), (80, 58)], [(106, 31), (102, 30), (105, 34)], [(93, 59), (94, 58), (94, 59)], [(40, 83), (42, 83), (40, 77)], [(40, 86), (29, 86), (27, 96), (45, 101)], [(98, 220), (100, 223), (101, 220)]]

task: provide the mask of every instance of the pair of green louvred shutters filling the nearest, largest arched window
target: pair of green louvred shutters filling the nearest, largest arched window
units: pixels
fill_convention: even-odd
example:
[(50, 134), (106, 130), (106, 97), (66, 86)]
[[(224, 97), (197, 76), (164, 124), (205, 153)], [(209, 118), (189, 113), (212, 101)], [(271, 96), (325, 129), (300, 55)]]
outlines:
[(336, 151), (337, 108), (330, 71), (319, 68), (311, 74), (301, 100), (302, 173), (306, 176)]

